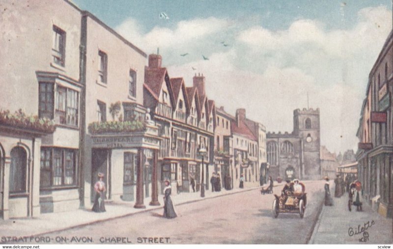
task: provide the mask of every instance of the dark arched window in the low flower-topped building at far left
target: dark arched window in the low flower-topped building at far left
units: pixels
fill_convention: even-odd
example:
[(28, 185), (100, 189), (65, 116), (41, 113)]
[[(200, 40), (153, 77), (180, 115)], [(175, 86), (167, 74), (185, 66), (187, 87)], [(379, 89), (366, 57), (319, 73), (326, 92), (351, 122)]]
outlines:
[(9, 172), (9, 193), (26, 192), (27, 154), (22, 147), (11, 150), (11, 166)]

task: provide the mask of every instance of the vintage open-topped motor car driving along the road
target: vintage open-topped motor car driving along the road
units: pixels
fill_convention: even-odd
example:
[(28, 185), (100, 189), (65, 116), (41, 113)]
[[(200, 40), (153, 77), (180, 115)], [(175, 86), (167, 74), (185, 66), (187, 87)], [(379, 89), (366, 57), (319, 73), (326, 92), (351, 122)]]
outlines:
[[(291, 183), (293, 184), (293, 183)], [(281, 193), (281, 196), (286, 195), (287, 198), (282, 207), (280, 207), (280, 196), (275, 194), (273, 200), (273, 216), (277, 218), (280, 213), (299, 213), (300, 218), (304, 217), (304, 212), (306, 210), (307, 195), (305, 193), (306, 187), (303, 183), (301, 193), (294, 193), (292, 191), (286, 191), (286, 193)]]

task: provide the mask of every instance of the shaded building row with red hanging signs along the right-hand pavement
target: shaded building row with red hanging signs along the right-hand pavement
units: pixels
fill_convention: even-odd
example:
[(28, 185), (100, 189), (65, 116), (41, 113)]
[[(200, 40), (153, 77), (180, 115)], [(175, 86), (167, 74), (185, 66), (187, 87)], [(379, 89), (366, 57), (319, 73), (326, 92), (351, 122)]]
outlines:
[[(393, 217), (393, 31), (375, 61), (361, 107), (356, 160), (364, 198)], [(375, 206), (375, 203), (373, 206)]]

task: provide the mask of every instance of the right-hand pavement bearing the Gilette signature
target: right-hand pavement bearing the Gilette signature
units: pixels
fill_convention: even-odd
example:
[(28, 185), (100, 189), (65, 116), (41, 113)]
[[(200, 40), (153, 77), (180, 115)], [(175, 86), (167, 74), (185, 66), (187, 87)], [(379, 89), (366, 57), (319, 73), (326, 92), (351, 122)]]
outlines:
[[(352, 206), (350, 212), (348, 194), (340, 198), (333, 197), (333, 201), (334, 206), (323, 206), (309, 244), (392, 244), (392, 219), (378, 215), (365, 202), (363, 202), (363, 212), (357, 212), (356, 206)], [(368, 221), (369, 225), (365, 224)], [(373, 225), (371, 225), (372, 221), (375, 222)], [(367, 228), (366, 232), (369, 236), (367, 242), (359, 241), (364, 238), (363, 232), (355, 234), (359, 228), (362, 230), (362, 227)], [(352, 236), (349, 235), (352, 234), (351, 231), (354, 233)]]

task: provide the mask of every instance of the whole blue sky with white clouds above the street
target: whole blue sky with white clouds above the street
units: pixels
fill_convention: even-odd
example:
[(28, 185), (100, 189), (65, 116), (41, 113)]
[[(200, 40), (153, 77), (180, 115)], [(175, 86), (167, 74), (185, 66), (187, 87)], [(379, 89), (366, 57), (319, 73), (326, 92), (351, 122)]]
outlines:
[(171, 78), (191, 86), (203, 73), (216, 107), (245, 108), (267, 131), (292, 132), (309, 93), (321, 145), (336, 153), (357, 150), (368, 74), (393, 23), (392, 0), (73, 2), (146, 54), (159, 48)]

